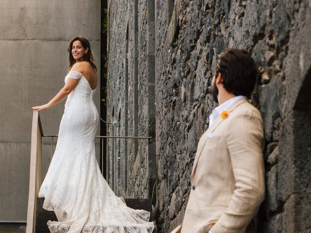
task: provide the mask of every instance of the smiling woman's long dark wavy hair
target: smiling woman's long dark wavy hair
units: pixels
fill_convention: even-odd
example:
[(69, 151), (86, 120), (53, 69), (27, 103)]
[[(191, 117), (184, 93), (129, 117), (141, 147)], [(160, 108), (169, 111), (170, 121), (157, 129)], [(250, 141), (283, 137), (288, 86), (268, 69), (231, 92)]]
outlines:
[(69, 52), (69, 70), (72, 68), (72, 66), (76, 63), (76, 60), (73, 58), (71, 50), (72, 50), (72, 44), (75, 41), (80, 41), (83, 48), (86, 49), (88, 48), (88, 51), (86, 54), (84, 54), (84, 56), (78, 61), (78, 62), (82, 62), (82, 61), (86, 61), (89, 62), (91, 64), (91, 66), (97, 71), (97, 68), (95, 66), (95, 62), (94, 62), (94, 58), (93, 58), (93, 53), (91, 51), (91, 46), (89, 44), (89, 41), (84, 38), (84, 37), (80, 37), (80, 36), (76, 36), (73, 39), (70, 40), (69, 42), (69, 46), (68, 46), (68, 52)]

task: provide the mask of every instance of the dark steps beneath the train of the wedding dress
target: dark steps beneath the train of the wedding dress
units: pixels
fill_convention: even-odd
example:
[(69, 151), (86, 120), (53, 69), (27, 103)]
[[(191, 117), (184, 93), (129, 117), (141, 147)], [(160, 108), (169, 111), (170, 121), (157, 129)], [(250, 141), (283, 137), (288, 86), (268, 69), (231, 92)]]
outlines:
[[(146, 210), (151, 213), (150, 220), (154, 220), (152, 215), (152, 200), (151, 199), (124, 199), (128, 207), (139, 210)], [(57, 221), (57, 218), (53, 211), (47, 211), (42, 208), (44, 198), (37, 198), (37, 209), (36, 209), (36, 222), (35, 222), (35, 233), (49, 233), (47, 225), (48, 220)], [(156, 230), (154, 231), (154, 233)]]

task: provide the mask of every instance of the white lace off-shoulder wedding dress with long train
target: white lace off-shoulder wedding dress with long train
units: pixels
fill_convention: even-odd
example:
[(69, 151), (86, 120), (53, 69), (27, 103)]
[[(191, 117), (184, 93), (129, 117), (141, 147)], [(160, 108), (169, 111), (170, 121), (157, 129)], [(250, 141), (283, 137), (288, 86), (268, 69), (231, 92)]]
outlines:
[(57, 146), (39, 197), (43, 208), (54, 211), (58, 221), (49, 221), (51, 233), (151, 233), (150, 213), (126, 206), (116, 197), (101, 174), (95, 157), (98, 112), (86, 78), (69, 94), (62, 117)]

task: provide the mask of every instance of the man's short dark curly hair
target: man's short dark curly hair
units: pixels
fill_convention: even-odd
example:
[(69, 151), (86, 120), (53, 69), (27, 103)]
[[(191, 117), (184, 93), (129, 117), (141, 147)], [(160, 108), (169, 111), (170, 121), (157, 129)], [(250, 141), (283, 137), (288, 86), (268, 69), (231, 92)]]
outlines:
[(222, 74), (222, 83), (227, 92), (250, 98), (258, 68), (246, 50), (228, 49), (220, 53), (217, 57), (216, 78), (219, 72)]

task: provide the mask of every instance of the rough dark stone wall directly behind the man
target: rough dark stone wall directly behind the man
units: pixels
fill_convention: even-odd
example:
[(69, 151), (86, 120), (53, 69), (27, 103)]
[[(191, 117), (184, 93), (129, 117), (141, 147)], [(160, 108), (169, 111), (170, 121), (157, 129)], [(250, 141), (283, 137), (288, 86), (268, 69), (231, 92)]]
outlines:
[[(302, 116), (300, 112), (295, 116), (294, 106), (298, 93), (303, 93), (303, 80), (304, 85), (310, 82), (306, 38), (311, 35), (307, 26), (311, 2), (175, 0), (178, 24), (173, 27), (173, 39), (174, 19), (163, 1), (155, 4), (160, 232), (181, 223), (196, 145), (215, 107), (210, 83), (216, 56), (233, 47), (250, 51), (261, 73), (251, 100), (263, 116), (265, 130), (267, 193), (258, 231), (310, 231), (310, 184), (306, 181), (310, 181), (306, 167), (310, 166), (310, 142), (298, 143), (304, 137), (310, 140), (310, 113), (303, 108)], [(310, 105), (307, 98), (302, 102), (304, 107)], [(298, 116), (305, 119), (304, 126)], [(295, 151), (302, 145), (305, 150)]]

